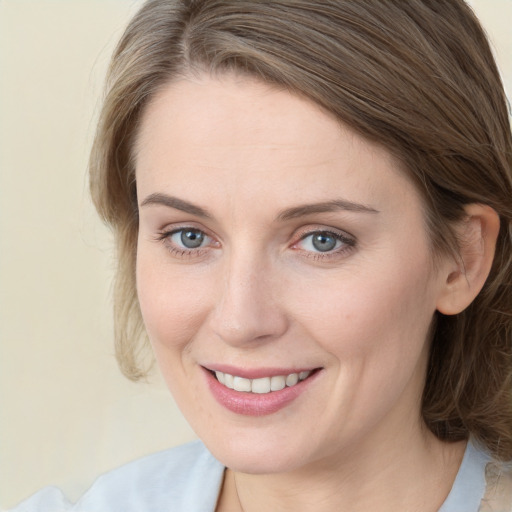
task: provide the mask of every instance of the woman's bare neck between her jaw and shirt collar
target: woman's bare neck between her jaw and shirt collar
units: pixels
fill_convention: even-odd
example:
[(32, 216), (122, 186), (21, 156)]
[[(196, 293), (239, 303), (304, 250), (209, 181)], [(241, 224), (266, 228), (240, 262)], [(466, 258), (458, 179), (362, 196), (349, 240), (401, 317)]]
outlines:
[(437, 511), (448, 495), (465, 443), (432, 434), (380, 440), (299, 470), (254, 475), (227, 470), (218, 511)]

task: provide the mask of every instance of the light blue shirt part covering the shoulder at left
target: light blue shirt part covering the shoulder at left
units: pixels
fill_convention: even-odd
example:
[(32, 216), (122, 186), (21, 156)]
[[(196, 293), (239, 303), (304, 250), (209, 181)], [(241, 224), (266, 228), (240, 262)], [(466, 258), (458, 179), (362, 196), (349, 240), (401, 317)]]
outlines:
[(196, 441), (102, 475), (75, 505), (48, 488), (12, 512), (205, 512), (215, 507), (223, 474), (222, 464)]

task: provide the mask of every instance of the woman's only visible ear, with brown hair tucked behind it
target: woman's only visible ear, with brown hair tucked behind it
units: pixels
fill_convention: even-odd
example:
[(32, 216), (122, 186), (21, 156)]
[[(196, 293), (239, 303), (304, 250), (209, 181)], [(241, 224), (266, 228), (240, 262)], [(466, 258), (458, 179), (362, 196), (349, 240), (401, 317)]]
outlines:
[(444, 279), (437, 310), (456, 315), (466, 309), (482, 289), (491, 271), (500, 230), (500, 218), (490, 206), (470, 204), (466, 217), (457, 225), (459, 255), (443, 266)]

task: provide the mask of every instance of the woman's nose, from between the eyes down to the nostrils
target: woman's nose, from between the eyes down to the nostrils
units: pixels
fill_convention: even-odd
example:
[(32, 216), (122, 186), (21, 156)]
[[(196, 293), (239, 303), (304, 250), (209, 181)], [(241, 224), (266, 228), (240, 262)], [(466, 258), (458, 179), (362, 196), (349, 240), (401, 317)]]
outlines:
[(233, 254), (223, 265), (213, 332), (233, 346), (281, 337), (288, 329), (280, 303), (284, 284), (272, 265), (251, 254)]

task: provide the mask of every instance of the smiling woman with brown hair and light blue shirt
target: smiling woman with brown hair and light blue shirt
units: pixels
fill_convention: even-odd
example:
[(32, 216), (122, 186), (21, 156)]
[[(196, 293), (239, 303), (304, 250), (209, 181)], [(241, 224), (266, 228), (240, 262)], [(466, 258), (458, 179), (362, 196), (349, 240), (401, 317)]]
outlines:
[(71, 510), (512, 510), (512, 140), (462, 0), (149, 1), (90, 168), (121, 368), (145, 330), (204, 444)]

